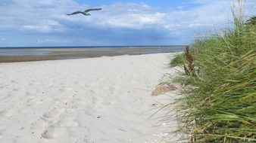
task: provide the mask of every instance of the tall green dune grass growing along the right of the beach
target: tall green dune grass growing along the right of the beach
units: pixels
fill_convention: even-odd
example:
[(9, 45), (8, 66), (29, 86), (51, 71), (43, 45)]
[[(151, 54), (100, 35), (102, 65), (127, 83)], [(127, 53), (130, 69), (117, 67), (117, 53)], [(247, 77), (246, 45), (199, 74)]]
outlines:
[[(234, 16), (234, 29), (196, 40), (197, 74), (174, 80), (190, 87), (179, 113), (192, 142), (256, 142), (256, 25), (240, 16)], [(186, 67), (184, 55), (170, 65)]]

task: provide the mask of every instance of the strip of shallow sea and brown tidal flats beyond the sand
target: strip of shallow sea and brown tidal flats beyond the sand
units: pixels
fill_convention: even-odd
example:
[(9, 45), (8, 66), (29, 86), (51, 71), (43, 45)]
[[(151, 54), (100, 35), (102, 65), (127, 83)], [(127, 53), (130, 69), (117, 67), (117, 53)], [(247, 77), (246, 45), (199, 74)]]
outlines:
[(0, 49), (0, 62), (28, 62), (55, 59), (82, 59), (101, 56), (175, 53), (184, 47), (73, 47)]

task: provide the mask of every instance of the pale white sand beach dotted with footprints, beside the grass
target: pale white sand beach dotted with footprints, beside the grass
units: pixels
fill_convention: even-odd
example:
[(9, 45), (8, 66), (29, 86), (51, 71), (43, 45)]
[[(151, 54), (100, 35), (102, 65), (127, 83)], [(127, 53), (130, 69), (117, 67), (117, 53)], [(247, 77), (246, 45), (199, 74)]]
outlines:
[(0, 63), (0, 142), (161, 142), (176, 120), (148, 119), (168, 99), (151, 92), (173, 54)]

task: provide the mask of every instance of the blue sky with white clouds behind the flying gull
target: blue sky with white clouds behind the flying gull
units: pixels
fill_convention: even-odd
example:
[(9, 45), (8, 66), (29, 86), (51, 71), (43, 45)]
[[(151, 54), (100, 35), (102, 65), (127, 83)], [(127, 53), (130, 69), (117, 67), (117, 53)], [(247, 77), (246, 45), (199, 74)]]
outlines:
[[(192, 44), (229, 26), (233, 0), (1, 0), (0, 47)], [(245, 14), (255, 15), (255, 0)], [(92, 16), (67, 16), (86, 8)]]

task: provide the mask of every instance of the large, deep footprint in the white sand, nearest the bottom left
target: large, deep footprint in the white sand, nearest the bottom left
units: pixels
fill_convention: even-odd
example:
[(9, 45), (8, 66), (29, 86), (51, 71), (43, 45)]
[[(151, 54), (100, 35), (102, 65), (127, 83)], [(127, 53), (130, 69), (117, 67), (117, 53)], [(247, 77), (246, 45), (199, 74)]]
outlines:
[(61, 135), (64, 135), (66, 130), (61, 127), (48, 126), (42, 133), (42, 138), (58, 138)]

